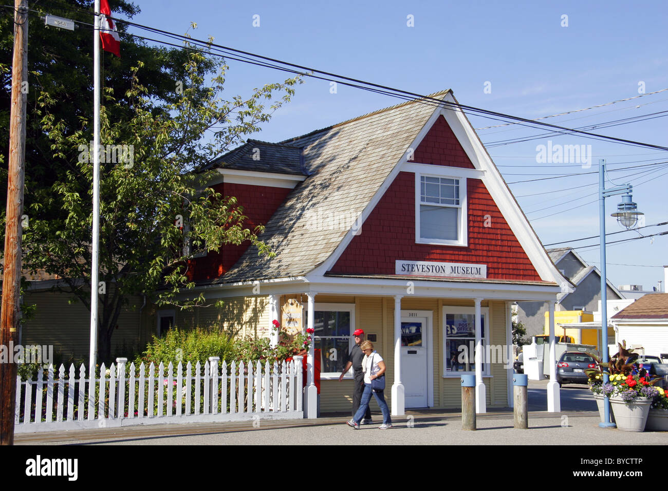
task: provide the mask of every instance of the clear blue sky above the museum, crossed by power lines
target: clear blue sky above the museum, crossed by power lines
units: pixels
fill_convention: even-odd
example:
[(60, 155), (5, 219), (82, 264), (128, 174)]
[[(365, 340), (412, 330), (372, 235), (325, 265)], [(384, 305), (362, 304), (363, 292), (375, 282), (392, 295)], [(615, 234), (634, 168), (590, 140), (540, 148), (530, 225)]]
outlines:
[[(182, 2), (145, 0), (140, 7), (142, 13), (133, 19), (138, 23), (184, 33), (194, 21), (198, 28), (191, 31), (193, 37), (212, 36), (222, 45), (419, 94), (452, 88), (462, 104), (524, 118), (580, 110), (668, 88), (668, 4), (661, 1), (192, 0), (184, 7)], [(254, 15), (259, 15), (259, 27), (253, 27)], [(409, 15), (413, 27), (407, 25)], [(286, 77), (267, 68), (236, 61), (229, 64), (225, 92), (230, 97), (247, 95), (254, 87)], [(336, 94), (329, 89), (327, 81), (307, 80), (297, 88), (293, 102), (277, 111), (253, 138), (279, 141), (399, 102), (340, 85)], [(668, 91), (547, 122), (576, 127), (667, 110)], [(656, 116), (591, 131), (668, 146), (668, 120), (662, 114)], [(474, 128), (501, 124), (479, 116), (469, 118)], [(513, 193), (522, 196), (518, 202), (545, 244), (598, 234), (599, 208), (589, 203), (596, 199), (598, 178), (584, 173), (597, 170), (599, 158), (605, 158), (610, 169), (668, 162), (665, 151), (572, 135), (497, 146), (490, 143), (544, 132), (518, 125), (478, 130), (506, 182), (578, 174), (510, 184)], [(591, 168), (556, 168), (557, 164), (537, 162), (536, 146), (547, 145), (548, 140), (552, 145), (591, 145)], [(668, 166), (664, 165), (610, 174), (617, 183), (633, 184), (634, 201), (645, 212), (647, 225), (668, 221)], [(630, 174), (637, 175), (625, 178)], [(536, 193), (544, 194), (525, 196)], [(589, 194), (593, 196), (587, 197)], [(616, 196), (607, 199), (608, 215), (617, 202)], [(607, 232), (619, 230), (609, 217)], [(662, 230), (668, 226), (642, 232)], [(625, 232), (609, 240), (634, 235), (638, 233)], [(609, 279), (615, 285), (657, 286), (663, 280), (660, 267), (668, 264), (667, 244), (668, 236), (610, 244)], [(599, 266), (598, 247), (578, 252)]]

